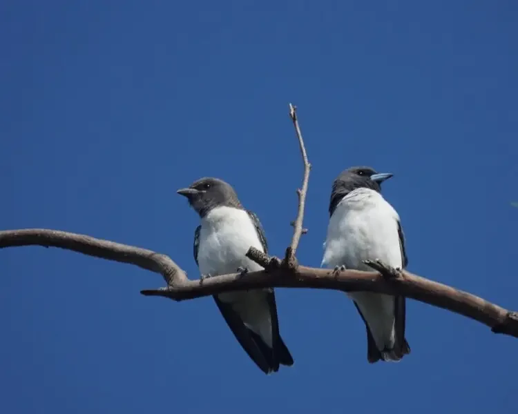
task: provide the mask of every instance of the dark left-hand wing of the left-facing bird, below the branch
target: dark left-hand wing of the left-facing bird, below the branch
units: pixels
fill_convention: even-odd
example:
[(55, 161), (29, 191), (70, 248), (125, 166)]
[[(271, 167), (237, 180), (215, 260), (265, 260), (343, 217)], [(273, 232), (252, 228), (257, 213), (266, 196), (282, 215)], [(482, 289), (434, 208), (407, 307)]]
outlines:
[(260, 370), (265, 374), (278, 371), (279, 363), (274, 360), (274, 351), (259, 335), (244, 325), (231, 304), (222, 302), (216, 295), (213, 295), (213, 298), (232, 333)]

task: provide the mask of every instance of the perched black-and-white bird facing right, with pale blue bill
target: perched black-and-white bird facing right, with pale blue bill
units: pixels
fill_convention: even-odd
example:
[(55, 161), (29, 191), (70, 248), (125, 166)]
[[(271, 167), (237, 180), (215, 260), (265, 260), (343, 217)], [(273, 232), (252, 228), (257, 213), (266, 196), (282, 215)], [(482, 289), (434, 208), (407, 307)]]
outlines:
[[(381, 183), (392, 174), (352, 167), (333, 183), (329, 226), (322, 266), (372, 270), (363, 260), (381, 260), (405, 268), (405, 237), (396, 210), (381, 195)], [(410, 353), (405, 339), (405, 297), (351, 292), (367, 328), (367, 360), (398, 362)]]

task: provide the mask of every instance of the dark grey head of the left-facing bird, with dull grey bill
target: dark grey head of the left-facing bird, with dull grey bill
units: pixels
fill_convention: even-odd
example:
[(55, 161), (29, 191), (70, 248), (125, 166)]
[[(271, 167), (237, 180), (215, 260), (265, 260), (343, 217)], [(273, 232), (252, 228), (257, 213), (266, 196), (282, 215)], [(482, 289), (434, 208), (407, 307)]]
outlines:
[(230, 184), (218, 178), (201, 178), (188, 188), (180, 188), (176, 193), (187, 197), (200, 217), (205, 217), (215, 207), (242, 208), (236, 191)]

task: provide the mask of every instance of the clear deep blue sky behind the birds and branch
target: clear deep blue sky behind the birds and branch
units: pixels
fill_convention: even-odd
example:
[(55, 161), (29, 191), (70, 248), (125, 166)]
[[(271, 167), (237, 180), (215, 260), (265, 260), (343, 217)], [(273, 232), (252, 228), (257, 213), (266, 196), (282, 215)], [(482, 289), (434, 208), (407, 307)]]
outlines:
[[(80, 4), (79, 4), (80, 3)], [(0, 228), (86, 233), (198, 277), (211, 175), (282, 254), (314, 165), (298, 256), (318, 266), (332, 180), (384, 186), (409, 269), (518, 308), (518, 8), (513, 1), (3, 1)], [(2, 413), (515, 413), (517, 339), (409, 301), (412, 354), (367, 364), (342, 293), (277, 290), (295, 358), (266, 376), (207, 297), (58, 249), (0, 251)]]

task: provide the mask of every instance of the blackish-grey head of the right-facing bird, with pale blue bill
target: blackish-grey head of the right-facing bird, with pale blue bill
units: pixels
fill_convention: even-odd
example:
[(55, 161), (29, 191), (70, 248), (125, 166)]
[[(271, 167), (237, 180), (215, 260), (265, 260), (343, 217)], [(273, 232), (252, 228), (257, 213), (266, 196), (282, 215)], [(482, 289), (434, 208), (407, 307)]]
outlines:
[(338, 203), (356, 188), (370, 188), (381, 193), (381, 183), (392, 177), (390, 172), (378, 173), (371, 167), (351, 167), (340, 172), (333, 182), (329, 215), (332, 215)]

